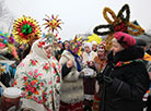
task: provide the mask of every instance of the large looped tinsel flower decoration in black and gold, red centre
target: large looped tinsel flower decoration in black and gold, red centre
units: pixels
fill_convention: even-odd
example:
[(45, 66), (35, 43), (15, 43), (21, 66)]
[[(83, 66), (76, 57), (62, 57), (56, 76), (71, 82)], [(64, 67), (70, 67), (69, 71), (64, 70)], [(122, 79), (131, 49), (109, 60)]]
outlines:
[[(126, 16), (124, 16), (124, 12), (126, 11)], [(107, 12), (112, 15), (113, 21), (107, 16)], [(103, 11), (104, 18), (108, 22), (107, 25), (98, 25), (94, 28), (94, 34), (96, 35), (108, 35), (107, 38), (105, 39), (106, 45), (105, 48), (106, 50), (109, 50), (112, 47), (112, 39), (113, 35), (115, 32), (124, 32), (128, 33), (133, 36), (139, 36), (144, 33), (144, 29), (141, 28), (140, 26), (137, 26), (132, 23), (129, 22), (130, 17), (130, 10), (129, 5), (125, 4), (121, 10), (118, 12), (117, 16), (109, 8), (105, 8)], [(106, 32), (101, 32), (101, 29), (106, 28)]]

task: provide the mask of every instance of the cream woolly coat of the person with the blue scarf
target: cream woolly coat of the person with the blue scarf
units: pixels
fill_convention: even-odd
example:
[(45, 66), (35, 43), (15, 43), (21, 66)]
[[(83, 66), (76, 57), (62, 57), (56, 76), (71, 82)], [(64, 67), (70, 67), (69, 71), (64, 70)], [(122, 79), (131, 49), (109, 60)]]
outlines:
[[(71, 69), (66, 66), (69, 60), (73, 62)], [(65, 50), (59, 63), (62, 66), (61, 101), (66, 103), (78, 103), (83, 101), (83, 79), (79, 78), (80, 73), (77, 70), (74, 57), (69, 51)]]

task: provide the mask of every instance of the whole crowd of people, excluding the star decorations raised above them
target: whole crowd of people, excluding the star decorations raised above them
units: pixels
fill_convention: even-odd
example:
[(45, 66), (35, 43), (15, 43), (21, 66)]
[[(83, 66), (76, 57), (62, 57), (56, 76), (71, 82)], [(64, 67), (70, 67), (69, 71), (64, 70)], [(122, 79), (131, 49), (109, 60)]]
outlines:
[[(22, 90), (24, 110), (143, 111), (150, 101), (147, 42), (121, 32), (114, 34), (112, 42), (108, 51), (104, 40), (97, 45), (36, 38), (28, 48), (19, 47), (20, 61), (8, 65), (1, 82)], [(3, 50), (1, 60), (8, 58)]]

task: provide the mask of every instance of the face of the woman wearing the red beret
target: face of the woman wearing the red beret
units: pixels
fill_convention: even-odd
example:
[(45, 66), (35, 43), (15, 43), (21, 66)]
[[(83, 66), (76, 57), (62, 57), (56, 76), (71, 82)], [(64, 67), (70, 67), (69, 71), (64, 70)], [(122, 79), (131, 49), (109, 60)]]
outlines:
[(113, 54), (115, 55), (117, 52), (124, 50), (124, 47), (121, 47), (121, 45), (118, 44), (117, 40), (114, 40), (112, 50), (113, 50)]

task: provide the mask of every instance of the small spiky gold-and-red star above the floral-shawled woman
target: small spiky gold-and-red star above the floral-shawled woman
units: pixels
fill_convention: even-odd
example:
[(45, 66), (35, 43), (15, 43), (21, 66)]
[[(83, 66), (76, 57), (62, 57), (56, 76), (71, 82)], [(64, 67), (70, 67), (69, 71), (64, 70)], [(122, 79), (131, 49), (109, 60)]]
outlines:
[(48, 27), (48, 32), (53, 32), (56, 30), (58, 33), (58, 28), (61, 29), (60, 24), (62, 24), (62, 22), (60, 22), (61, 20), (58, 20), (58, 15), (56, 15), (56, 17), (54, 15), (50, 16), (46, 15), (48, 18), (44, 18), (46, 21), (46, 23), (44, 23), (43, 25), (46, 25), (45, 28)]

